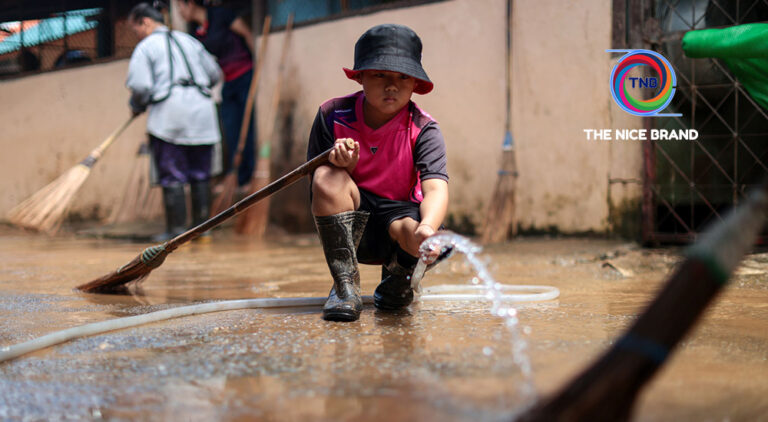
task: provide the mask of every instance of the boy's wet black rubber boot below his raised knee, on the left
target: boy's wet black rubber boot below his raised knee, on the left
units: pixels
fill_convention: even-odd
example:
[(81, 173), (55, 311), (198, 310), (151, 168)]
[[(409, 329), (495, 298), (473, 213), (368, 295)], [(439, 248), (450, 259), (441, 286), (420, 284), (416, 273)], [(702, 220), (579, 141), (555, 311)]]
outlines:
[(363, 310), (357, 246), (363, 236), (368, 213), (348, 211), (315, 217), (323, 252), (333, 277), (333, 287), (323, 306), (326, 321), (356, 321)]

